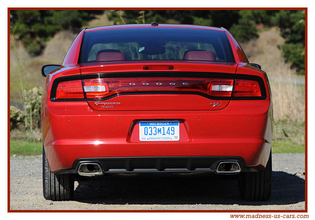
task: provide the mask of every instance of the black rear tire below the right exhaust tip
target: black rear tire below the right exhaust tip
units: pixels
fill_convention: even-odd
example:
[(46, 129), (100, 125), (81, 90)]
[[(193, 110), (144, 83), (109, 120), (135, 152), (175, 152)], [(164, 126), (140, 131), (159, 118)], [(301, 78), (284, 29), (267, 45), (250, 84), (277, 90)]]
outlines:
[(245, 201), (268, 200), (271, 194), (271, 152), (266, 168), (262, 172), (244, 172), (239, 175), (239, 195)]

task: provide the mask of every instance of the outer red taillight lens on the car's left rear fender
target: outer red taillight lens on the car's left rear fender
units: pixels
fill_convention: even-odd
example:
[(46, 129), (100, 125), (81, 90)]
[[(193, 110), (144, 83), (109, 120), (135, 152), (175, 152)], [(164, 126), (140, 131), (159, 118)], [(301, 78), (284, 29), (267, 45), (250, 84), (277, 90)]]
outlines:
[(59, 82), (55, 98), (56, 99), (84, 98), (81, 80)]

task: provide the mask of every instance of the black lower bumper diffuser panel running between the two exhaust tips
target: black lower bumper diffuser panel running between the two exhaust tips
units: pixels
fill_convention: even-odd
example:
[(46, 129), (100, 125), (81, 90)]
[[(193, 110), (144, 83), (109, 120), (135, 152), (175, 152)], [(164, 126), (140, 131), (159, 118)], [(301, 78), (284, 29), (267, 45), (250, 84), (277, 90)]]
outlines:
[[(71, 169), (58, 174), (76, 174), (80, 164), (98, 164), (102, 173), (215, 173), (220, 162), (237, 162), (246, 172), (245, 161), (240, 157), (109, 157), (76, 159)], [(253, 171), (253, 170), (250, 170)]]

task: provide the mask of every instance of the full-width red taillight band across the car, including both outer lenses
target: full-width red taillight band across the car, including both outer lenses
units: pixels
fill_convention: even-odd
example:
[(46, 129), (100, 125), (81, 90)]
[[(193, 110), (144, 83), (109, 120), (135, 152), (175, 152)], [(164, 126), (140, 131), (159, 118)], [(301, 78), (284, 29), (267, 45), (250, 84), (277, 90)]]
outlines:
[[(247, 76), (246, 76), (247, 77)], [(252, 79), (252, 80), (249, 80)], [(220, 97), (226, 100), (262, 99), (264, 87), (260, 87), (261, 78), (226, 79), (226, 78), (192, 78), (192, 77), (116, 77), (92, 78), (81, 80), (56, 81), (52, 89), (53, 99), (104, 99), (123, 94), (143, 93), (178, 93), (199, 94), (211, 99)], [(235, 82), (235, 84), (233, 84)], [(260, 83), (260, 84), (259, 84)], [(55, 93), (54, 93), (55, 91)], [(84, 96), (85, 95), (85, 96)]]

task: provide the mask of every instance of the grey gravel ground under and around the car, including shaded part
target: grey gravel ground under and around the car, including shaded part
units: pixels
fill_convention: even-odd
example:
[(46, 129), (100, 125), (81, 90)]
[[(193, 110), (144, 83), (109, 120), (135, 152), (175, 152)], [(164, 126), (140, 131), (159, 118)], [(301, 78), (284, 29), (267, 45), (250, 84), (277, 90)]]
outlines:
[(272, 155), (268, 201), (244, 202), (217, 175), (105, 176), (74, 183), (73, 201), (42, 197), (41, 156), (10, 158), (10, 210), (304, 210), (304, 154)]

